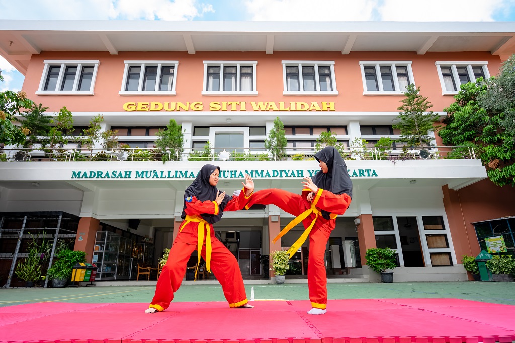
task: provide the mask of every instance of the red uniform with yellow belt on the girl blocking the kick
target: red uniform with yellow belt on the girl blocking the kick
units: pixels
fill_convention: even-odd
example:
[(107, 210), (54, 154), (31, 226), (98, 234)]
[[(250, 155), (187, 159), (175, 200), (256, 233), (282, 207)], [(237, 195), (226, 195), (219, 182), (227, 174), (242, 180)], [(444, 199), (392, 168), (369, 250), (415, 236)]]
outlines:
[[(245, 188), (238, 196), (233, 196), (224, 211), (237, 211), (245, 207), (249, 201)], [(245, 305), (247, 295), (243, 284), (242, 272), (234, 255), (215, 237), (213, 226), (202, 219), (200, 214), (218, 214), (216, 201), (199, 201), (192, 197), (186, 204), (186, 218), (182, 221), (179, 233), (171, 246), (168, 260), (161, 271), (156, 294), (149, 307), (164, 311), (174, 299), (174, 293), (179, 289), (186, 263), (195, 249), (201, 250), (206, 268), (213, 270), (216, 279), (222, 285), (224, 295), (230, 307)], [(209, 239), (207, 239), (209, 236)], [(205, 237), (205, 238), (204, 238)], [(200, 257), (199, 257), (200, 259)]]

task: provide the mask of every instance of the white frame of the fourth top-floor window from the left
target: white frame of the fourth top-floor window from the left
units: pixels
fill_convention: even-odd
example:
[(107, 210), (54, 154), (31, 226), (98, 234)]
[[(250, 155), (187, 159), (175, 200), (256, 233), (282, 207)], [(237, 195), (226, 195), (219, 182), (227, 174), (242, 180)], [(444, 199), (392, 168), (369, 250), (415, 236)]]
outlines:
[[(338, 95), (336, 89), (336, 76), (334, 73), (334, 61), (281, 61), (283, 65), (283, 95)], [(299, 68), (299, 91), (288, 91), (286, 83), (286, 67)], [(311, 66), (315, 68), (315, 84), (320, 89), (320, 79), (318, 77), (318, 67), (331, 68), (331, 87), (332, 91), (304, 91), (304, 82), (302, 79), (302, 67)]]

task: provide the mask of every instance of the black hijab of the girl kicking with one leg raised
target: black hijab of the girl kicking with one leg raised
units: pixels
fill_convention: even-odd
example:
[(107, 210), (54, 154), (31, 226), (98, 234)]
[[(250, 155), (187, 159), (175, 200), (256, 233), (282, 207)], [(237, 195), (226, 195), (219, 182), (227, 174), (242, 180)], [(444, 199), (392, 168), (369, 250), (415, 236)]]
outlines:
[[(347, 166), (340, 153), (333, 146), (328, 146), (315, 153), (315, 159), (327, 164), (328, 172), (318, 171), (313, 177), (313, 183), (323, 190), (334, 194), (348, 194), (352, 198), (352, 181), (347, 173)], [(325, 219), (330, 219), (330, 213), (322, 211)]]

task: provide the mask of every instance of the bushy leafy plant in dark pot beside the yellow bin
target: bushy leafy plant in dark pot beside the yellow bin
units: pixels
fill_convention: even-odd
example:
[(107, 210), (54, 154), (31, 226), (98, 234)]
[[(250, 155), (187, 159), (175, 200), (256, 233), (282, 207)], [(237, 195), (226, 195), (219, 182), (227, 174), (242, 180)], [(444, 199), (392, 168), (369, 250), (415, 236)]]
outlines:
[(52, 287), (64, 287), (72, 276), (73, 267), (79, 262), (86, 262), (84, 251), (73, 251), (62, 242), (56, 249), (57, 260), (48, 268), (47, 278), (52, 280)]

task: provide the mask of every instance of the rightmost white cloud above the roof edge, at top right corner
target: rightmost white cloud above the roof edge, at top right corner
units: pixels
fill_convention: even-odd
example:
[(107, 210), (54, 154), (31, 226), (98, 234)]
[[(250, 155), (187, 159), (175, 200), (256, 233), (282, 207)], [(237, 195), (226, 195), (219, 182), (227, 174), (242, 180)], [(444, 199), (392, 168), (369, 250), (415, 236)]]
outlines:
[(414, 2), (383, 0), (377, 8), (382, 21), (493, 21), (493, 14), (506, 11), (513, 0), (432, 0)]

